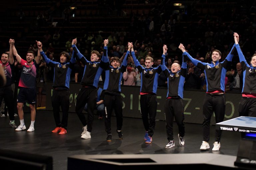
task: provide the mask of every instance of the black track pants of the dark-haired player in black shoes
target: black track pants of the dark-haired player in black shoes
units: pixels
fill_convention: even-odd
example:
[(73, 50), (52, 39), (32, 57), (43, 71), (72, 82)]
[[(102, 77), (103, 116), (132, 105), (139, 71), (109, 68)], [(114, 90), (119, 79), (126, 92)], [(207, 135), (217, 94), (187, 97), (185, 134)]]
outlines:
[(104, 106), (105, 106), (105, 130), (108, 134), (111, 133), (111, 115), (114, 109), (116, 115), (117, 130), (121, 130), (123, 126), (123, 110), (122, 110), (122, 98), (121, 95), (109, 95), (105, 94)]

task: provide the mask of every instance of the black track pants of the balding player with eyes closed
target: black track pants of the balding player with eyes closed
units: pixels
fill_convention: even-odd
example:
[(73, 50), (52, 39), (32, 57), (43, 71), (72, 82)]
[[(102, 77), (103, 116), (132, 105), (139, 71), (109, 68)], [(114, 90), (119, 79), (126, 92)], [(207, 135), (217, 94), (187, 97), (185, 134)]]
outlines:
[(184, 105), (181, 98), (166, 99), (164, 105), (167, 139), (173, 140), (173, 118), (179, 128), (179, 135), (184, 137), (185, 125), (184, 121)]

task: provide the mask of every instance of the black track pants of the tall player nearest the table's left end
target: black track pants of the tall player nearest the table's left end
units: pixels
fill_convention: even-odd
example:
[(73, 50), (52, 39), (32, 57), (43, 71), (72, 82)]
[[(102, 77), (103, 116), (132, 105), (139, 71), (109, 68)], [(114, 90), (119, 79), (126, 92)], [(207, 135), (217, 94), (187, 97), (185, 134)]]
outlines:
[[(210, 140), (210, 122), (213, 112), (216, 123), (223, 122), (225, 116), (226, 99), (225, 94), (211, 95), (206, 93), (203, 103), (203, 141)], [(216, 129), (215, 141), (220, 141), (222, 130)]]

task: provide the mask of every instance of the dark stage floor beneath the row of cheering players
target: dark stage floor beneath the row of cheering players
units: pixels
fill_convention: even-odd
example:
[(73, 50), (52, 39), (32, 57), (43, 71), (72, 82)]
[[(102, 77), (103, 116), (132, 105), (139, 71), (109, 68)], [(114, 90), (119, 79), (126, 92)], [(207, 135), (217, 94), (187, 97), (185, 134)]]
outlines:
[[(27, 129), (30, 126), (30, 114), (24, 115)], [(19, 118), (15, 118), (18, 126)], [(185, 124), (185, 146), (179, 146), (178, 129), (174, 125), (175, 147), (166, 149), (167, 144), (165, 121), (157, 121), (151, 144), (145, 144), (144, 127), (141, 119), (124, 118), (124, 140), (119, 140), (116, 131), (115, 117), (112, 118), (112, 142), (107, 142), (104, 120), (94, 119), (91, 139), (81, 139), (82, 124), (75, 113), (69, 114), (68, 133), (59, 135), (51, 133), (55, 128), (51, 111), (37, 111), (35, 131), (16, 132), (9, 126), (9, 118), (0, 118), (0, 148), (52, 156), (54, 170), (67, 169), (67, 157), (79, 154), (165, 154), (165, 153), (216, 153), (237, 155), (240, 142), (239, 132), (223, 131), (220, 151), (212, 151), (215, 126), (211, 126), (210, 150), (200, 151), (202, 143), (202, 125)]]

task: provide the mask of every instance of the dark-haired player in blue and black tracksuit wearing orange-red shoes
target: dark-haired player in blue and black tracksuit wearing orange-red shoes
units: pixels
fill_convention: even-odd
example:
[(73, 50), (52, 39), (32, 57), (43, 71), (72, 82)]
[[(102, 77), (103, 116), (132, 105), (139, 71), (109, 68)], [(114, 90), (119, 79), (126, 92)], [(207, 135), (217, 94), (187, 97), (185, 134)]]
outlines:
[[(60, 53), (60, 62), (50, 60), (42, 50), (42, 43), (37, 42), (40, 54), (43, 56), (46, 64), (54, 68), (53, 91), (52, 91), (52, 108), (53, 116), (56, 123), (56, 128), (53, 133), (67, 133), (68, 126), (68, 110), (69, 110), (69, 81), (70, 74), (74, 68), (76, 59), (73, 57), (70, 62), (67, 52)], [(39, 56), (38, 56), (39, 57)], [(60, 121), (60, 107), (62, 110), (62, 120)]]

